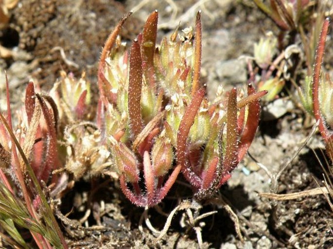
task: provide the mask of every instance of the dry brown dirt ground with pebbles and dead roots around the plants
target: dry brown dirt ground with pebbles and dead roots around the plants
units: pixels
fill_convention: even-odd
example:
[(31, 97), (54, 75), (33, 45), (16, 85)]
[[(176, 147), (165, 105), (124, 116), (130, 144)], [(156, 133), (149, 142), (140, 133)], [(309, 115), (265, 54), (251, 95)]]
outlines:
[[(138, 2), (20, 0), (17, 7), (10, 10), (9, 25), (0, 31), (1, 45), (13, 52), (12, 56), (0, 59), (1, 96), (3, 69), (8, 72), (14, 106), (21, 103), (29, 79), (34, 79), (43, 89), (50, 89), (59, 77), (60, 69), (77, 76), (85, 70), (94, 85), (93, 90), (97, 91), (94, 82), (105, 38), (119, 18), (131, 9), (137, 11), (124, 28), (125, 39), (133, 39), (138, 34), (154, 9), (159, 11), (159, 38), (169, 35), (179, 21), (180, 28), (193, 26), (196, 11), (202, 10), (202, 81), (207, 83), (208, 95), (218, 84), (225, 84), (226, 88), (244, 86), (248, 76), (245, 62), (239, 57), (251, 56), (254, 42), (267, 31), (278, 33), (275, 24), (250, 0), (151, 0), (142, 6)], [(330, 43), (332, 41), (328, 47)], [(61, 55), (61, 50), (66, 57)], [(330, 53), (327, 51), (331, 58), (333, 53)], [(232, 65), (234, 71), (224, 69), (226, 65)], [(327, 65), (330, 66), (330, 62)], [(1, 109), (4, 101), (4, 98), (0, 99)], [(276, 174), (287, 163), (311, 131), (311, 126), (304, 127), (304, 113), (295, 107), (288, 95), (279, 101), (280, 107), (276, 103), (263, 108), (260, 129), (249, 149), (252, 157), (271, 174)], [(270, 113), (276, 110), (280, 115), (272, 117)], [(277, 193), (310, 190), (318, 184), (323, 186), (323, 170), (315, 156), (317, 153), (324, 162), (323, 148), (320, 136), (315, 134), (282, 171), (276, 183)], [(268, 174), (246, 156), (219, 191), (220, 198), (229, 204), (236, 217), (230, 215), (224, 203), (208, 200), (197, 204), (198, 209), (191, 209), (191, 212), (177, 212), (167, 234), (158, 243), (154, 243), (157, 233), (141, 220), (144, 210), (125, 199), (119, 183), (108, 177), (94, 179), (92, 183), (78, 182), (62, 199), (61, 213), (70, 213), (68, 218), (72, 220), (86, 217), (82, 225), (87, 229), (76, 230), (64, 221), (59, 222), (63, 223), (73, 249), (198, 248), (195, 231), (201, 231), (202, 248), (333, 248), (333, 214), (325, 197), (316, 195), (286, 201), (260, 197), (260, 193), (272, 191), (272, 184)], [(156, 230), (163, 229), (167, 215), (181, 202), (180, 196), (191, 201), (191, 188), (181, 178), (158, 208), (147, 211)], [(191, 216), (195, 218), (212, 211), (216, 212), (191, 222)], [(237, 235), (235, 222), (239, 224), (244, 241)], [(96, 224), (100, 229), (89, 229)]]

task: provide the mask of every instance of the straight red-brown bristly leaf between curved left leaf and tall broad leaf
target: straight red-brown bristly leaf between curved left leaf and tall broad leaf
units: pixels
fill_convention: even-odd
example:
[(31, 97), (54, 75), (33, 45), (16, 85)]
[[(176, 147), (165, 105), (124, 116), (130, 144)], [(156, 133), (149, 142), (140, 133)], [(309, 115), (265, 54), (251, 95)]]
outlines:
[(138, 40), (131, 46), (129, 58), (129, 83), (128, 83), (128, 114), (132, 134), (134, 137), (142, 131), (143, 121), (141, 116), (141, 88), (142, 88), (142, 60)]

